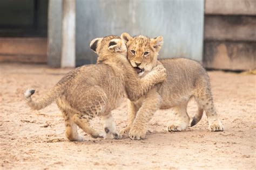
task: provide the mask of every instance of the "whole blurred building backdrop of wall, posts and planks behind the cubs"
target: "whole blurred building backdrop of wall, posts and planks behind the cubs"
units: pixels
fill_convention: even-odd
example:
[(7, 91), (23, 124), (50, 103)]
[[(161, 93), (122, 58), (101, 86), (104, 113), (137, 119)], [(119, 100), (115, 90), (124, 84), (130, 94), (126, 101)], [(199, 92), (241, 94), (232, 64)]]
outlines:
[(1, 0), (0, 62), (95, 63), (90, 41), (110, 34), (164, 37), (159, 58), (208, 69), (256, 63), (256, 0)]

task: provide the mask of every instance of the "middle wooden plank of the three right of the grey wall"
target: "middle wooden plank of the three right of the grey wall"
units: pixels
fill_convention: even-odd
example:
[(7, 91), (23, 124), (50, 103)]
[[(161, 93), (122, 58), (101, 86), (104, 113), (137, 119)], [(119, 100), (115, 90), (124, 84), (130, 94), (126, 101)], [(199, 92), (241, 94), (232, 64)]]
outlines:
[(204, 28), (206, 40), (256, 41), (256, 16), (206, 15)]

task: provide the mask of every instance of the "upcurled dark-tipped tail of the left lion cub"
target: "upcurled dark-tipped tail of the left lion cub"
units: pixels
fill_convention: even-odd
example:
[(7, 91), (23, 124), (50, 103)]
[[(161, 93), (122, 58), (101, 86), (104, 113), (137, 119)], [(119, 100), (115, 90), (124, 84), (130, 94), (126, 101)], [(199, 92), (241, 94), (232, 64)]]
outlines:
[(40, 110), (51, 104), (53, 101), (56, 101), (56, 99), (63, 93), (63, 91), (63, 88), (58, 87), (58, 84), (56, 84), (38, 101), (33, 101), (31, 98), (31, 96), (35, 93), (35, 90), (33, 89), (26, 90), (24, 96), (26, 104), (28, 104), (31, 109)]

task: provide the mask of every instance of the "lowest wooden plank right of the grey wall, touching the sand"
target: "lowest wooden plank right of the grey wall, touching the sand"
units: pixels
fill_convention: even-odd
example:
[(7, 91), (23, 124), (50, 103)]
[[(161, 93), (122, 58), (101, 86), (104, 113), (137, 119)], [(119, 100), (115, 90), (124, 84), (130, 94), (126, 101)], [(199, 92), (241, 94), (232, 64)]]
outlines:
[(206, 68), (248, 70), (256, 68), (256, 42), (205, 41)]

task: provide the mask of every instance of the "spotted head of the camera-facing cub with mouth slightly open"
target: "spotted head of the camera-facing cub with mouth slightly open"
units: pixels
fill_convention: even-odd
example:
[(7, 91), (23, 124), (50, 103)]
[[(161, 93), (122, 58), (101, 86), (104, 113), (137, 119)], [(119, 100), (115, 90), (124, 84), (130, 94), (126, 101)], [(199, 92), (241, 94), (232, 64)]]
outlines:
[(121, 39), (127, 46), (127, 59), (139, 76), (143, 75), (144, 71), (150, 72), (156, 66), (158, 52), (164, 43), (162, 36), (156, 38), (131, 37), (128, 33), (123, 33)]

